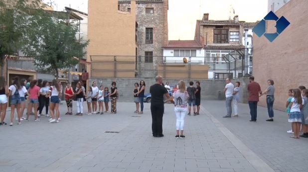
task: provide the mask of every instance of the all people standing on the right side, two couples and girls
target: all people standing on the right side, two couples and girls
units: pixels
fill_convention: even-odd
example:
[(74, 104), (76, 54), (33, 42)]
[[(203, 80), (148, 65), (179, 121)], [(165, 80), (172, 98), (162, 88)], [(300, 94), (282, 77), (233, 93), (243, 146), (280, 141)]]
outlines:
[[(267, 88), (262, 91), (259, 83), (254, 81), (253, 76), (249, 77), (250, 83), (247, 86), (249, 95), (248, 95), (248, 104), (251, 115), (251, 122), (257, 121), (257, 106), (259, 97), (266, 95), (266, 104), (268, 109), (269, 118), (266, 121), (274, 121), (274, 81), (267, 80)], [(233, 100), (233, 109), (234, 115), (238, 116), (238, 107), (237, 102), (239, 99), (239, 86), (240, 83), (236, 82), (236, 87), (234, 88), (230, 79), (226, 80), (226, 86), (224, 88), (226, 94), (226, 107), (227, 115), (226, 117), (231, 117), (232, 107), (231, 102)], [(292, 138), (299, 139), (300, 137), (308, 138), (308, 89), (305, 86), (299, 86), (299, 88), (289, 89), (288, 90), (288, 99), (286, 102), (286, 112), (288, 113), (288, 121), (292, 123), (292, 129), (287, 131), (288, 133), (294, 133)], [(303, 134), (299, 135), (300, 130), (303, 130)]]

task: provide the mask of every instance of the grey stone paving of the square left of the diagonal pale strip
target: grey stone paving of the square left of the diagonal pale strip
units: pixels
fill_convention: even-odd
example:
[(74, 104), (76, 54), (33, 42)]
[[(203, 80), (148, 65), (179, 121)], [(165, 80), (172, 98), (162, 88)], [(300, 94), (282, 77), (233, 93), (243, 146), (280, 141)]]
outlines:
[[(65, 108), (61, 105), (60, 111)], [(116, 115), (61, 115), (62, 120), (57, 124), (50, 124), (46, 117), (41, 117), (39, 122), (0, 126), (0, 143), (7, 146), (1, 152), (0, 171), (255, 171), (208, 116), (186, 116), (186, 138), (175, 139), (173, 107), (165, 104), (165, 136), (154, 138), (150, 104), (145, 103), (144, 114), (139, 118), (128, 113), (134, 108), (134, 103), (119, 102)], [(8, 137), (9, 140), (4, 140)]]

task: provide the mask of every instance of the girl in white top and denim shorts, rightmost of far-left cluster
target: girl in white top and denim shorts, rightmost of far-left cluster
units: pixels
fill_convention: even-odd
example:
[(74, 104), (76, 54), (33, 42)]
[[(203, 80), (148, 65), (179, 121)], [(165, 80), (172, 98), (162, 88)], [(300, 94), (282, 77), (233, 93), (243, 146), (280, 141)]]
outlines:
[[(51, 118), (48, 120), (50, 123), (58, 123), (60, 118), (60, 111), (59, 111), (59, 103), (60, 103), (60, 96), (61, 96), (61, 88), (60, 84), (57, 80), (52, 80), (52, 86), (50, 86), (48, 95), (50, 95), (50, 104), (49, 110)], [(56, 111), (56, 116), (55, 116)]]

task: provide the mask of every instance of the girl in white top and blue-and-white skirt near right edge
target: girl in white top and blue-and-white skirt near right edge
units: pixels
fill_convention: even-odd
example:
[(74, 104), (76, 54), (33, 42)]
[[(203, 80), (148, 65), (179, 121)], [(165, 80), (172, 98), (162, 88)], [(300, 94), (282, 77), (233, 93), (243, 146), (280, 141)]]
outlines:
[(301, 90), (300, 89), (293, 89), (292, 94), (294, 97), (291, 100), (291, 110), (290, 110), (290, 116), (289, 116), (289, 122), (292, 122), (293, 130), (294, 130), (294, 136), (291, 136), (291, 138), (299, 139), (299, 133), (301, 128), (301, 122), (302, 122), (302, 114), (301, 109), (304, 105), (304, 98), (302, 98)]

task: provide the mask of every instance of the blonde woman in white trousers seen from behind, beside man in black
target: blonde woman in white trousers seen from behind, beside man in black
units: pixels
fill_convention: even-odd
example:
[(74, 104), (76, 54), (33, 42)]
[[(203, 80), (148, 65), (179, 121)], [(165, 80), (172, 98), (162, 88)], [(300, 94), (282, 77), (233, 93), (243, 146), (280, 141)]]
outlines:
[[(179, 81), (178, 90), (173, 93), (174, 113), (176, 115), (176, 136), (175, 138), (184, 139), (184, 118), (187, 112), (188, 92), (185, 89), (184, 81)], [(181, 133), (179, 134), (179, 130)]]

